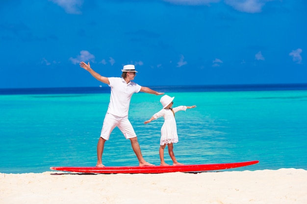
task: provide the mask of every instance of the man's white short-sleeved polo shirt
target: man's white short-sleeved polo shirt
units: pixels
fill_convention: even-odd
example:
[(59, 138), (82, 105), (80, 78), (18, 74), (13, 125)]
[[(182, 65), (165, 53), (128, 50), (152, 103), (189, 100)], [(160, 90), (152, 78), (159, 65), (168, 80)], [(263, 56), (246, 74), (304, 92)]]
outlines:
[(127, 84), (121, 77), (109, 77), (108, 79), (111, 95), (107, 113), (127, 117), (132, 94), (139, 92), (141, 86), (132, 81)]

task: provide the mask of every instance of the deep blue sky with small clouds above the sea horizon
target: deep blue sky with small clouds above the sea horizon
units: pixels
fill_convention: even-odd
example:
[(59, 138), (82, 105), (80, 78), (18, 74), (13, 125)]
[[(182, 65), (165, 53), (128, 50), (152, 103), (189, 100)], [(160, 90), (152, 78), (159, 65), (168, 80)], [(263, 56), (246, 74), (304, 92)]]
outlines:
[(306, 0), (1, 0), (0, 89), (307, 83)]

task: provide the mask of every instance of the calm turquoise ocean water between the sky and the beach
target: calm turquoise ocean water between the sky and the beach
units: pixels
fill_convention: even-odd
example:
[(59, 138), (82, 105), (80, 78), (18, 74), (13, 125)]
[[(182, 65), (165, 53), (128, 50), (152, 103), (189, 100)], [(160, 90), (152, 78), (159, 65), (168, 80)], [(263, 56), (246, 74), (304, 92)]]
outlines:
[[(233, 170), (307, 169), (306, 86), (159, 87), (175, 96), (179, 142), (185, 164), (259, 160)], [(50, 171), (51, 166), (94, 166), (109, 88), (0, 90), (0, 172)], [(161, 96), (137, 93), (129, 119), (143, 157), (158, 165), (163, 118), (143, 122), (161, 109)], [(171, 159), (165, 152), (166, 162)], [(115, 129), (106, 142), (107, 166), (138, 165), (129, 140)]]

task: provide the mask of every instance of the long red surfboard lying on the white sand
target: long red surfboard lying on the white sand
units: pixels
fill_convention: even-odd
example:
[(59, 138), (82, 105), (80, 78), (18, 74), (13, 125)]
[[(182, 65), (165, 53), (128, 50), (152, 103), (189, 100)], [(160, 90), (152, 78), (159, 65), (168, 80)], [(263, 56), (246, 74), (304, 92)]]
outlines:
[(259, 161), (244, 161), (220, 164), (188, 164), (180, 166), (109, 166), (109, 167), (50, 167), (51, 170), (94, 174), (157, 174), (170, 172), (205, 172), (231, 169), (256, 164)]

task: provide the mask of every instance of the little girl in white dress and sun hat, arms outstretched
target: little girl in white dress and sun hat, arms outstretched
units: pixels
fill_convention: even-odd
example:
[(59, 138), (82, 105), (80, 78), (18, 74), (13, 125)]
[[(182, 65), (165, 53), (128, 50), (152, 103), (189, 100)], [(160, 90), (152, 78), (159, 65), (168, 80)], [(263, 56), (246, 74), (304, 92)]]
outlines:
[(175, 120), (175, 113), (178, 111), (185, 111), (186, 109), (195, 108), (196, 106), (178, 106), (176, 108), (172, 108), (173, 100), (175, 97), (170, 97), (169, 95), (164, 95), (161, 97), (160, 102), (163, 106), (163, 109), (158, 113), (155, 113), (149, 120), (145, 121), (144, 124), (147, 124), (158, 117), (164, 117), (164, 123), (161, 128), (161, 139), (160, 139), (160, 159), (161, 166), (168, 166), (169, 164), (164, 161), (164, 149), (167, 144), (168, 153), (170, 154), (171, 159), (173, 160), (173, 165), (183, 165), (179, 163), (173, 152), (173, 143), (178, 142), (177, 135), (177, 125)]

